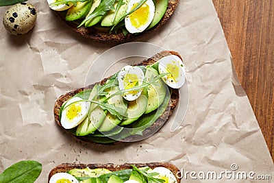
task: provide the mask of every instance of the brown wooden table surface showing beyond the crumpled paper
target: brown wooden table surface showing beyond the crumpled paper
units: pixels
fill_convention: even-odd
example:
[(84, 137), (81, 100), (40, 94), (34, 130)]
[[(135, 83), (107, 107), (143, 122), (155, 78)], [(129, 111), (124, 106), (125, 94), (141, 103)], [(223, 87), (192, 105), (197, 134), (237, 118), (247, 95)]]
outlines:
[(236, 73), (274, 160), (274, 1), (212, 1)]

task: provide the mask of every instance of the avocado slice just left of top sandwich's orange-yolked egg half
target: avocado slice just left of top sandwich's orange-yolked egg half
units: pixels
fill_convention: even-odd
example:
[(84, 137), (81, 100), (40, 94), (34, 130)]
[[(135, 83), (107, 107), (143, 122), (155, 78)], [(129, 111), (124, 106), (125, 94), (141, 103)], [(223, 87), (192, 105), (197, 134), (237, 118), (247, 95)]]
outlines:
[(121, 5), (119, 10), (117, 10), (118, 12), (116, 13), (115, 19), (114, 19), (114, 15), (115, 15), (115, 11), (116, 11), (116, 7), (117, 7), (118, 3), (117, 2), (114, 3), (115, 9), (108, 11), (108, 13), (105, 15), (105, 17), (101, 21), (101, 26), (110, 27), (110, 26), (116, 24), (127, 13), (128, 3), (129, 3), (129, 0), (123, 0), (123, 5)]

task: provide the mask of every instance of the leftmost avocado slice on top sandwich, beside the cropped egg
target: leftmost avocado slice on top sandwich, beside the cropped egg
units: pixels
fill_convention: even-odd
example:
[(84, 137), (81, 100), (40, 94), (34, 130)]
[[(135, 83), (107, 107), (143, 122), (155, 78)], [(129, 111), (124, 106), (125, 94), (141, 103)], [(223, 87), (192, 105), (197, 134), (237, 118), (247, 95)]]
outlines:
[(90, 11), (92, 1), (76, 2), (76, 6), (69, 8), (66, 12), (66, 21), (75, 21), (82, 19)]

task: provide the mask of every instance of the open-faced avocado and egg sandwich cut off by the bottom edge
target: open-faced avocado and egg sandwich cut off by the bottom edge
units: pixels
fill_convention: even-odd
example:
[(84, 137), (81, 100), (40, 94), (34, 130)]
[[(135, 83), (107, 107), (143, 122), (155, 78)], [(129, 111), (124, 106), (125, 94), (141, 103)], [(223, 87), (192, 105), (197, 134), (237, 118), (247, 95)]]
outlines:
[(166, 162), (138, 164), (60, 164), (49, 183), (179, 183), (179, 169)]

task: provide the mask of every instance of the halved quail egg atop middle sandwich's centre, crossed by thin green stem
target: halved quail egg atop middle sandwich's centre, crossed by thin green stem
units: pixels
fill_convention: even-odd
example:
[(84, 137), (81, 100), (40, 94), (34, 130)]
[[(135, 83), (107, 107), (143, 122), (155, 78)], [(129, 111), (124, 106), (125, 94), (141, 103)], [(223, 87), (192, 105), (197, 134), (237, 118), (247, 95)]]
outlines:
[[(135, 86), (142, 85), (145, 75), (138, 66), (125, 66), (118, 75), (118, 82), (120, 90), (127, 90)], [(134, 101), (137, 99), (142, 90), (132, 90), (123, 94), (127, 101)]]

